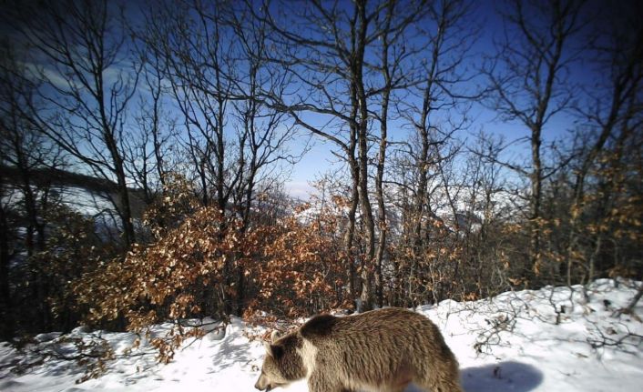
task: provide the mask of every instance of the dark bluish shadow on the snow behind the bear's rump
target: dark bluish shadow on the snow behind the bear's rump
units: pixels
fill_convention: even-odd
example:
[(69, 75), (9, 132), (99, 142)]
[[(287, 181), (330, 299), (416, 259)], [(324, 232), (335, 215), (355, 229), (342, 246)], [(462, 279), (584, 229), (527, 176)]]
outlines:
[(531, 365), (505, 361), (464, 368), (460, 379), (466, 392), (527, 392), (543, 382), (543, 373)]

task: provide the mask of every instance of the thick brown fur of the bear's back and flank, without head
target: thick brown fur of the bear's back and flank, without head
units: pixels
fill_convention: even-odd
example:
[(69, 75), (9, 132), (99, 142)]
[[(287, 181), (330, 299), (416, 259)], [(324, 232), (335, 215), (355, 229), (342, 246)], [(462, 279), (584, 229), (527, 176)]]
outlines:
[(401, 308), (312, 317), (299, 333), (316, 347), (316, 367), (352, 380), (355, 388), (380, 385), (386, 382), (383, 377), (422, 373), (432, 356), (454, 361), (438, 328), (427, 317)]

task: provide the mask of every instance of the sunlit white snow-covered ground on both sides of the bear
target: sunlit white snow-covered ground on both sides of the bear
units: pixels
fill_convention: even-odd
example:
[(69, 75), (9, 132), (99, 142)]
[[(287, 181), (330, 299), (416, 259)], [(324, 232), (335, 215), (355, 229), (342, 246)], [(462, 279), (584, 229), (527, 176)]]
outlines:
[[(588, 301), (580, 286), (572, 296), (566, 287), (546, 287), (416, 310), (443, 331), (460, 361), (467, 392), (638, 391), (643, 382), (643, 324), (638, 317), (612, 317), (634, 297), (636, 285), (597, 280), (588, 286)], [(643, 316), (643, 304), (636, 313)], [(263, 348), (244, 332), (248, 327), (233, 318), (225, 337), (212, 332), (179, 350), (168, 365), (155, 364), (153, 354), (119, 356), (109, 363), (106, 375), (80, 384), (76, 380), (83, 371), (74, 361), (41, 360), (34, 354), (56, 347), (72, 355), (68, 345), (56, 346), (56, 334), (38, 336), (43, 343), (22, 351), (0, 343), (0, 391), (250, 391), (259, 377)], [(78, 328), (69, 337), (89, 336)], [(117, 353), (134, 340), (132, 334), (102, 337)], [(282, 390), (307, 388), (299, 382)]]

